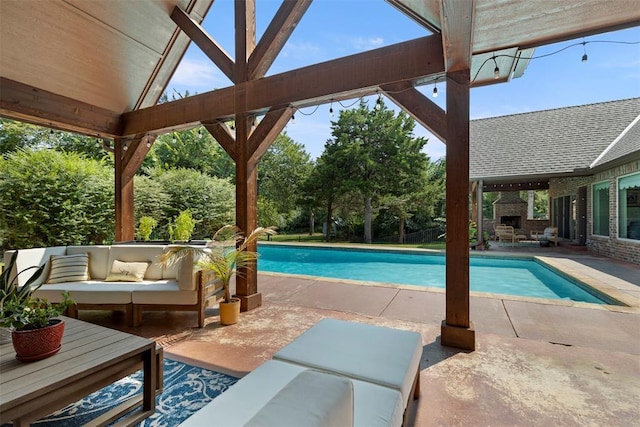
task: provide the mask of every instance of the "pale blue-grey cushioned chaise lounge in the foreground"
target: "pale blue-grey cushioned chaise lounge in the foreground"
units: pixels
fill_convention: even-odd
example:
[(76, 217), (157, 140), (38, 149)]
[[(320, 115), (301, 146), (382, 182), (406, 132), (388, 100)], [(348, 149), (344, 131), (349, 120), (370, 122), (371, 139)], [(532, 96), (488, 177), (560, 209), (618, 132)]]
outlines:
[(181, 427), (406, 426), (421, 358), (416, 332), (323, 319)]

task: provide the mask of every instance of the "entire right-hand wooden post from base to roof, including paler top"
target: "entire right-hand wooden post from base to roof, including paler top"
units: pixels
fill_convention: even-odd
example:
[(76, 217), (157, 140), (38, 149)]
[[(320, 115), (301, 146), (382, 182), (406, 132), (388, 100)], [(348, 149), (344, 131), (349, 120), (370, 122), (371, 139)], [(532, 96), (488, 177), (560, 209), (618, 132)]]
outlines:
[(469, 314), (469, 100), (475, 1), (443, 0), (447, 67), (446, 310), (442, 345), (475, 350)]

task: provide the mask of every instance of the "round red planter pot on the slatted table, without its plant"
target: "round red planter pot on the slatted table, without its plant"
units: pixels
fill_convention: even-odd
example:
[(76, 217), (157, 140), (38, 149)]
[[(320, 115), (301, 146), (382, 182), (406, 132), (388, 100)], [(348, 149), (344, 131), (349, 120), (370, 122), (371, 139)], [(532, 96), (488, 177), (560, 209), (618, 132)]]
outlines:
[(16, 359), (33, 362), (53, 356), (60, 351), (64, 322), (51, 320), (49, 326), (39, 329), (12, 331), (11, 340), (16, 351)]

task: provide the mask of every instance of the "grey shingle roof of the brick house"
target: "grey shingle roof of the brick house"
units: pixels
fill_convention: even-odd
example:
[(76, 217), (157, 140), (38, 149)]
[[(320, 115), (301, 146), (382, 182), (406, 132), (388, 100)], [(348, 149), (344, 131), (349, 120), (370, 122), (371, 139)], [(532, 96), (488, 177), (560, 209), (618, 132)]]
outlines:
[(575, 174), (598, 157), (594, 167), (640, 152), (640, 124), (629, 127), (638, 114), (640, 98), (632, 98), (472, 120), (470, 177)]

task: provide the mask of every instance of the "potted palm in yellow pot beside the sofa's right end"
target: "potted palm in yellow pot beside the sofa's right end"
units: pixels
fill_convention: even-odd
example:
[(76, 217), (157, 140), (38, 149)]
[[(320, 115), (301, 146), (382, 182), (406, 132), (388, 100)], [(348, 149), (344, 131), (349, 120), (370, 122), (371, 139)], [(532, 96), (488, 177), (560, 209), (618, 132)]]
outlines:
[(219, 306), (220, 323), (233, 325), (238, 322), (240, 315), (240, 300), (231, 297), (231, 278), (254, 265), (258, 253), (249, 250), (249, 246), (260, 236), (270, 234), (276, 234), (273, 227), (258, 227), (248, 236), (243, 236), (236, 226), (225, 225), (216, 231), (212, 240), (204, 247), (173, 246), (162, 256), (161, 261), (170, 264), (193, 255), (194, 266), (198, 271), (210, 273), (222, 283), (224, 299)]

